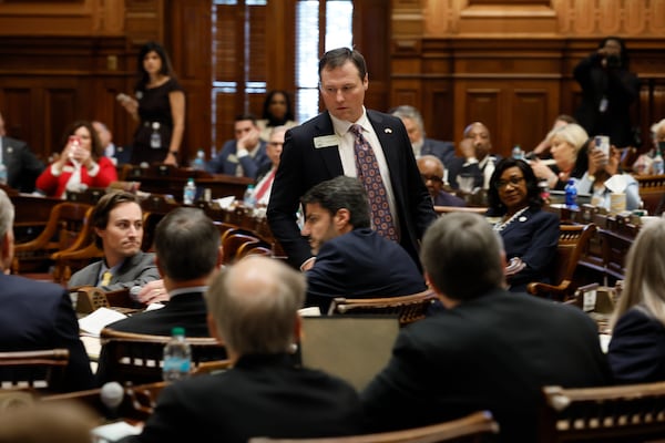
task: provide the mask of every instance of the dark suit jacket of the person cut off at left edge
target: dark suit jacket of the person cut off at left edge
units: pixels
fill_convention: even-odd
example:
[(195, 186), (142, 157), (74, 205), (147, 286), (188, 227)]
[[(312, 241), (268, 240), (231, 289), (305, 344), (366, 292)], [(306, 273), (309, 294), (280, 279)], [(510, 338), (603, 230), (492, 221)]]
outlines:
[(66, 348), (65, 390), (94, 385), (71, 298), (61, 286), (0, 272), (0, 351)]

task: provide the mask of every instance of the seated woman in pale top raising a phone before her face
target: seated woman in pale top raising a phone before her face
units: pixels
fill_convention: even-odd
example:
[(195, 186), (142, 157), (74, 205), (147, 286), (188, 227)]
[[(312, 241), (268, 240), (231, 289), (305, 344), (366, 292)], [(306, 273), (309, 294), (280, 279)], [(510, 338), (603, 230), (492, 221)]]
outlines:
[(611, 209), (612, 190), (605, 185), (611, 177), (621, 176), (625, 182), (627, 210), (640, 208), (640, 184), (632, 175), (621, 172), (621, 153), (615, 146), (610, 147), (610, 155), (596, 148), (594, 141), (589, 143), (589, 169), (577, 182), (577, 192), (591, 194), (591, 204)]

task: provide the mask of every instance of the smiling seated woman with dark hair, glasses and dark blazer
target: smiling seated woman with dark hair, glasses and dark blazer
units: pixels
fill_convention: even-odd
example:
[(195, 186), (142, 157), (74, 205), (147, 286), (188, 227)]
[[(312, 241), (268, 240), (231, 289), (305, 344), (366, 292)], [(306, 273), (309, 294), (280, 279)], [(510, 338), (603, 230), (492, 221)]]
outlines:
[(531, 281), (551, 282), (549, 274), (559, 243), (559, 217), (541, 210), (538, 181), (529, 164), (503, 158), (490, 181), (488, 216), (503, 238), (507, 280), (512, 292), (524, 292)]

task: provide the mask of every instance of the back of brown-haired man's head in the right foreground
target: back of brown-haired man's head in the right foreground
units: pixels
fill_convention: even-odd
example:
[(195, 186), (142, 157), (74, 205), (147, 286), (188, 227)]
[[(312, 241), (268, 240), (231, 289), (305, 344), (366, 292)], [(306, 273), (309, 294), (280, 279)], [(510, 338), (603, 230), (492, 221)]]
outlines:
[(446, 297), (468, 300), (503, 285), (503, 246), (480, 215), (448, 214), (424, 233), (420, 260)]

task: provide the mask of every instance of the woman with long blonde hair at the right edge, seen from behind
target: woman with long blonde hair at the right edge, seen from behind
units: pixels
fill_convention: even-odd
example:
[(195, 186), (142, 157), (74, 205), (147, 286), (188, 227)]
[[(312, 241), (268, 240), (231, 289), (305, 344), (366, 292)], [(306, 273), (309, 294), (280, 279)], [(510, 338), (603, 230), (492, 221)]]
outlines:
[(620, 383), (665, 380), (665, 219), (642, 227), (611, 320), (610, 367)]

